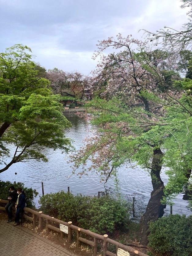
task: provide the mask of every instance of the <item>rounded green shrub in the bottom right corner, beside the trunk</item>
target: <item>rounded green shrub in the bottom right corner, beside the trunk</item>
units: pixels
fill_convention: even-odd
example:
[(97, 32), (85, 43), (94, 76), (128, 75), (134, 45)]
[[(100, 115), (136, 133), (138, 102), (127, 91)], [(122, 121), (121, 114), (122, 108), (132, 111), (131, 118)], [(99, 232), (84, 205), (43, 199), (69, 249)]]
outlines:
[(160, 255), (192, 255), (192, 216), (169, 215), (149, 225), (149, 246)]

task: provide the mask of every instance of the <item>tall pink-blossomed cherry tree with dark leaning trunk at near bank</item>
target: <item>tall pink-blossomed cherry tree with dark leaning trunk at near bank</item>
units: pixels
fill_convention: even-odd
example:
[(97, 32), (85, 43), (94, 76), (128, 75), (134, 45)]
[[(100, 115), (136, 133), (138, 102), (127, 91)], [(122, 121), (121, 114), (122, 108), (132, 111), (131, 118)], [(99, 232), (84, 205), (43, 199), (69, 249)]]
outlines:
[[(114, 52), (105, 56), (103, 53), (109, 47), (113, 47)], [(140, 54), (135, 53), (132, 47), (136, 47)], [(147, 244), (148, 222), (163, 216), (165, 198), (168, 197), (160, 177), (162, 164), (165, 163), (165, 140), (171, 136), (167, 127), (173, 125), (166, 119), (167, 109), (176, 105), (191, 115), (180, 100), (182, 93), (165, 87), (161, 65), (156, 65), (156, 59), (150, 59), (150, 53), (151, 47), (131, 36), (122, 38), (119, 34), (117, 40), (110, 37), (99, 42), (94, 58), (100, 56), (100, 62), (93, 71), (95, 79), (92, 86), (100, 88), (104, 85), (105, 90), (101, 93), (103, 100), (96, 99), (91, 103), (96, 107), (92, 122), (99, 128), (95, 137), (87, 141), (85, 148), (72, 158), (74, 171), (81, 165), (80, 174), (95, 169), (106, 181), (117, 173), (121, 164), (128, 161), (136, 160), (149, 171), (153, 191), (141, 219), (143, 245)], [(92, 161), (88, 169), (87, 160)], [(185, 175), (182, 177), (186, 182)]]

